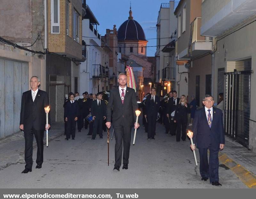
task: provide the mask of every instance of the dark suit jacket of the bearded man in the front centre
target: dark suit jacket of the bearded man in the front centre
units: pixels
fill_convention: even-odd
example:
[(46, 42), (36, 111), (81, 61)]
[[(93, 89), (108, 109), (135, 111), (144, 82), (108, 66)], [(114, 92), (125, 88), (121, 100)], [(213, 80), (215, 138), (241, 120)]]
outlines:
[(111, 111), (113, 108), (112, 122), (118, 125), (124, 117), (127, 125), (133, 126), (136, 121), (135, 111), (138, 110), (138, 103), (133, 88), (126, 87), (124, 104), (122, 103), (119, 88), (113, 88), (110, 91), (107, 107), (107, 122), (111, 122)]

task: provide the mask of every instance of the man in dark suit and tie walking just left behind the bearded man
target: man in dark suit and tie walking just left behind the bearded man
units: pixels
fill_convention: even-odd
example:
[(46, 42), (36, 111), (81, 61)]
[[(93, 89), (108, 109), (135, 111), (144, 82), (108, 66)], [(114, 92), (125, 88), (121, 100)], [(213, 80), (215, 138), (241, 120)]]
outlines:
[(102, 100), (102, 93), (97, 93), (97, 100), (92, 101), (93, 133), (92, 140), (95, 140), (97, 133), (102, 138), (102, 123), (106, 119), (106, 103)]

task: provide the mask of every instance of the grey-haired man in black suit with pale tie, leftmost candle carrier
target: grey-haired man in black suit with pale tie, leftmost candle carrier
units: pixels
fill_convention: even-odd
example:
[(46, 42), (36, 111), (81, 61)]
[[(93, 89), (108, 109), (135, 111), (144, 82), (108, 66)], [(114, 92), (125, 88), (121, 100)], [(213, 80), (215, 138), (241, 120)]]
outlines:
[(32, 153), (34, 135), (37, 144), (36, 169), (42, 168), (44, 152), (44, 130), (50, 128), (51, 119), (48, 115), (46, 126), (46, 113), (44, 107), (49, 106), (49, 98), (45, 91), (39, 90), (40, 80), (33, 76), (30, 79), (31, 90), (22, 94), (20, 110), (20, 129), (24, 131), (25, 138), (25, 169), (21, 173), (32, 171)]

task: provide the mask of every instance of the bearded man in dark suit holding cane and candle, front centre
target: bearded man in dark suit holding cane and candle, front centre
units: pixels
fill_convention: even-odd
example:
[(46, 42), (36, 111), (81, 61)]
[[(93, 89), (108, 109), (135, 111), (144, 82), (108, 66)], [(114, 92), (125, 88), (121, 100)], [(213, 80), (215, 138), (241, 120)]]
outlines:
[(113, 127), (115, 129), (115, 166), (113, 171), (119, 171), (122, 163), (122, 150), (124, 142), (124, 154), (123, 154), (123, 168), (128, 169), (129, 153), (131, 144), (131, 130), (132, 126), (138, 128), (139, 123), (136, 121), (135, 111), (138, 109), (138, 103), (136, 100), (135, 91), (132, 88), (126, 86), (127, 76), (125, 73), (118, 75), (119, 87), (113, 88), (110, 91), (107, 107), (107, 122), (106, 126), (111, 126), (111, 115)]

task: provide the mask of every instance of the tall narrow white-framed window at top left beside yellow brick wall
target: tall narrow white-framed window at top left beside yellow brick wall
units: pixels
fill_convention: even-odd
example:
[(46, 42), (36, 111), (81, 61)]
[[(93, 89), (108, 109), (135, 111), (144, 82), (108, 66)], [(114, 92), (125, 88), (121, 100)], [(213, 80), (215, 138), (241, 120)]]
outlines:
[(60, 0), (51, 0), (51, 33), (60, 33)]

